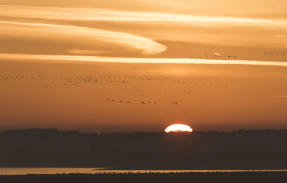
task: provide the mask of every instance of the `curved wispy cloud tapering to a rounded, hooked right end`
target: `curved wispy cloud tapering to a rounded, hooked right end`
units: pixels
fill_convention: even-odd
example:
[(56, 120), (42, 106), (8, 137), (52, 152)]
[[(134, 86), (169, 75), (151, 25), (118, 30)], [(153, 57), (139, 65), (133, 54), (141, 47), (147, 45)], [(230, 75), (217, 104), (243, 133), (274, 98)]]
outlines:
[[(1, 25), (2, 24), (2, 25)], [(12, 24), (12, 26), (3, 26), (3, 24)], [(7, 22), (0, 21), (0, 34), (11, 34), (11, 32), (17, 31), (17, 35), (22, 32), (30, 34), (29, 36), (45, 36), (51, 35), (59, 37), (65, 36), (77, 36), (90, 41), (102, 41), (110, 42), (114, 44), (124, 45), (129, 48), (137, 48), (143, 50), (144, 53), (154, 54), (160, 53), (166, 50), (166, 46), (154, 42), (151, 39), (140, 37), (129, 33), (120, 33), (102, 29), (93, 29), (78, 26), (65, 26), (65, 25), (53, 25), (42, 23), (20, 23), (20, 22)], [(23, 33), (23, 34), (24, 34)], [(88, 38), (88, 39), (87, 39)], [(60, 41), (60, 40), (59, 40)]]

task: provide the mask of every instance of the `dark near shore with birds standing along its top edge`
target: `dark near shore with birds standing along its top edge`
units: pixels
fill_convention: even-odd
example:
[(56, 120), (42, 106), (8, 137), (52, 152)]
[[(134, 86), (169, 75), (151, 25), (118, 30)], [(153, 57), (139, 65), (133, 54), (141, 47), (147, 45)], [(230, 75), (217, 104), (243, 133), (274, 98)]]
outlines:
[(287, 172), (182, 172), (142, 174), (0, 175), (0, 182), (286, 182)]

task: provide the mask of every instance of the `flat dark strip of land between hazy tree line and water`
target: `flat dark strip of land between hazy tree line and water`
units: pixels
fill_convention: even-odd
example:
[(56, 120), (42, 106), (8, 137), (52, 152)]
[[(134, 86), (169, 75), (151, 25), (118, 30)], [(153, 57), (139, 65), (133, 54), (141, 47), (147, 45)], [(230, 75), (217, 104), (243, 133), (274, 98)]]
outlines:
[(0, 153), (0, 167), (110, 170), (285, 170), (287, 152)]

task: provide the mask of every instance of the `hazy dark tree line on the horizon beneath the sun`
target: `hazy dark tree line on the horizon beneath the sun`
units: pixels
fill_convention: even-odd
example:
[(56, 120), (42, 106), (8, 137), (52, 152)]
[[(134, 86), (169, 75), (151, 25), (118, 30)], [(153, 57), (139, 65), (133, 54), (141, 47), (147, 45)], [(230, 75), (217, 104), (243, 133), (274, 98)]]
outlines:
[(287, 130), (81, 133), (20, 129), (0, 132), (0, 153), (269, 152), (287, 150)]

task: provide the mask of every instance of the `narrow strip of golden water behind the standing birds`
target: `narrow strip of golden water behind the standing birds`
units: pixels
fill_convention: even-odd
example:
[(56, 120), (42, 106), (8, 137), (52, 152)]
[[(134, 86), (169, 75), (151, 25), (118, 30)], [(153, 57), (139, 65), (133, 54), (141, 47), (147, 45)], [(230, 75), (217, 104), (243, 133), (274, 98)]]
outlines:
[(99, 173), (99, 172), (234, 172), (234, 171), (287, 171), (287, 170), (96, 170), (102, 168), (0, 168), (0, 175), (56, 174), (56, 173)]

